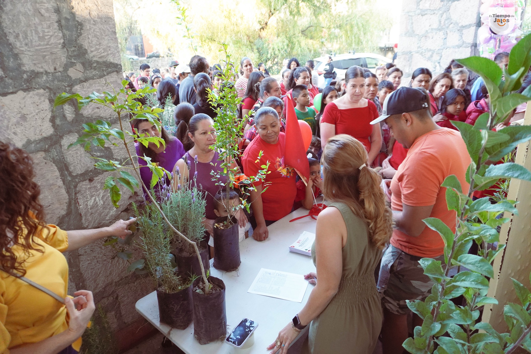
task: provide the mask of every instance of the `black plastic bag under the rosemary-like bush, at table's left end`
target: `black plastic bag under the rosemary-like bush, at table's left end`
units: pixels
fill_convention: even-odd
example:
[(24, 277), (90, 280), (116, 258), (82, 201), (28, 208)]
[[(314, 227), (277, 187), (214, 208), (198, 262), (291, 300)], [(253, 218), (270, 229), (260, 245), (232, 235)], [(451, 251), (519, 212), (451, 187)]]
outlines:
[[(186, 279), (186, 275), (183, 275), (183, 278)], [(190, 285), (174, 293), (167, 293), (157, 289), (160, 322), (179, 330), (186, 329), (192, 323), (192, 288), (193, 286)]]

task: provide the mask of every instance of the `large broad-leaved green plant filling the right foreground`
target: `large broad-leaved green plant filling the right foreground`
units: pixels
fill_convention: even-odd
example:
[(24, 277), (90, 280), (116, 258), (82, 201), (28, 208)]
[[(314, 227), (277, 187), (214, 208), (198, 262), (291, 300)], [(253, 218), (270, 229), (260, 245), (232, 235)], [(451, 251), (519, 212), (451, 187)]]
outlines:
[[(509, 126), (494, 132), (492, 129), (503, 122), (511, 111), (531, 97), (531, 86), (523, 93), (515, 93), (531, 64), (531, 36), (521, 39), (512, 48), (509, 66), (503, 69), (487, 58), (469, 57), (459, 63), (481, 75), (489, 90), (490, 112), (477, 119), (474, 126), (453, 122), (467, 145), (472, 162), (466, 172), (469, 187), (465, 190), (456, 176), (448, 176), (446, 187), (448, 210), (455, 210), (456, 231), (435, 218), (425, 219), (426, 225), (437, 231), (444, 240), (444, 261), (422, 258), (419, 263), (435, 284), (425, 301), (408, 301), (408, 307), (421, 318), (423, 325), (415, 327), (414, 338), (408, 338), (403, 346), (410, 353), (515, 353), (520, 348), (531, 351), (531, 298), (529, 290), (513, 279), (520, 304), (504, 306), (504, 317), (509, 333), (498, 333), (488, 323), (479, 322), (480, 309), (486, 304), (498, 304), (487, 297), (489, 280), (494, 277), (492, 261), (503, 251), (489, 247), (499, 241), (498, 227), (509, 218), (502, 213), (518, 215), (515, 201), (499, 200), (491, 203), (488, 197), (472, 200), (475, 191), (490, 188), (500, 179), (517, 178), (531, 181), (531, 173), (513, 162), (494, 165), (518, 144), (531, 139), (530, 126)], [(502, 80), (504, 77), (504, 80)], [(473, 242), (479, 246), (478, 255), (468, 254)], [(465, 267), (453, 278), (452, 266)], [(463, 295), (465, 306), (456, 306), (451, 299)], [(481, 332), (480, 332), (481, 331)], [(438, 345), (435, 348), (435, 343)]]

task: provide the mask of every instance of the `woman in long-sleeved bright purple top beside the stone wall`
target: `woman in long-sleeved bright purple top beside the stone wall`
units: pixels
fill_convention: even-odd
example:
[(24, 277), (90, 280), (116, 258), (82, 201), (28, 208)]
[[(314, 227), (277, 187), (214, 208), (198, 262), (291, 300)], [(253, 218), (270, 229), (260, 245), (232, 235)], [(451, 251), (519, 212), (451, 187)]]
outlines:
[[(171, 172), (175, 163), (183, 157), (184, 148), (183, 143), (179, 141), (176, 137), (168, 135), (164, 128), (160, 129), (155, 125), (149, 123), (147, 119), (133, 119), (131, 122), (133, 128), (136, 129), (139, 135), (148, 134), (149, 136), (157, 136), (164, 139), (165, 145), (160, 144), (158, 147), (155, 143), (149, 143), (148, 146), (144, 146), (141, 143), (136, 143), (136, 154), (139, 156), (138, 164), (140, 166), (140, 177), (142, 182), (144, 182), (146, 187), (150, 187), (151, 177), (153, 176), (149, 167), (147, 167), (147, 162), (143, 158), (144, 156), (151, 158), (151, 162), (158, 162), (159, 166)], [(164, 180), (164, 185), (169, 186), (170, 176), (166, 176)], [(153, 187), (155, 189), (155, 194), (157, 198), (160, 195), (160, 189), (162, 186), (160, 182)], [(148, 200), (148, 195), (144, 189), (144, 198)]]

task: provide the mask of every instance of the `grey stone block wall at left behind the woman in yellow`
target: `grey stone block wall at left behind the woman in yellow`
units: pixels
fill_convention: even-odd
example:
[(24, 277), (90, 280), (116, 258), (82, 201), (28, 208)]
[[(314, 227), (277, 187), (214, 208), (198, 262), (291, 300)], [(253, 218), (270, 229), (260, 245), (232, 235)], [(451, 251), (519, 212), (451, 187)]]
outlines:
[[(92, 159), (122, 159), (124, 152), (67, 149), (83, 123), (116, 123), (112, 111), (101, 106), (78, 111), (73, 103), (53, 109), (61, 92), (101, 92), (110, 90), (109, 84), (119, 87), (121, 80), (112, 0), (0, 2), (0, 141), (31, 154), (47, 222), (66, 230), (96, 228), (131, 214), (138, 195), (123, 190), (115, 209), (102, 191), (107, 174), (93, 167)], [(142, 321), (134, 304), (152, 291), (149, 278), (127, 274), (127, 264), (100, 241), (65, 255), (69, 293), (92, 290), (118, 332)]]

